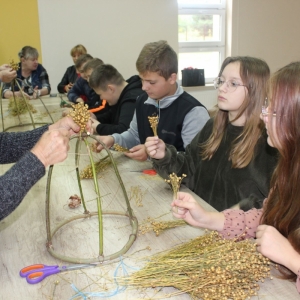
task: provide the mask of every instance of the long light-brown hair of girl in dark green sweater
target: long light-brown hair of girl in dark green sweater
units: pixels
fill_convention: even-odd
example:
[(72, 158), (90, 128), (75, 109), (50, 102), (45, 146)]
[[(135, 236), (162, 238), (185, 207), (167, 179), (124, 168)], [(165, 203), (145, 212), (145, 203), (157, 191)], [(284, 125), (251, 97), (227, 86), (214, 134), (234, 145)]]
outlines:
[[(233, 168), (246, 167), (254, 155), (254, 148), (264, 128), (260, 120), (261, 107), (266, 95), (266, 82), (270, 76), (270, 69), (265, 61), (248, 56), (227, 57), (221, 67), (219, 76), (224, 68), (230, 63), (240, 63), (240, 76), (243, 84), (247, 87), (248, 93), (240, 107), (235, 121), (243, 114), (246, 122), (242, 133), (233, 142), (229, 154)], [(201, 145), (202, 159), (211, 159), (220, 146), (225, 129), (229, 123), (228, 111), (216, 110), (214, 117), (213, 131), (208, 140)]]

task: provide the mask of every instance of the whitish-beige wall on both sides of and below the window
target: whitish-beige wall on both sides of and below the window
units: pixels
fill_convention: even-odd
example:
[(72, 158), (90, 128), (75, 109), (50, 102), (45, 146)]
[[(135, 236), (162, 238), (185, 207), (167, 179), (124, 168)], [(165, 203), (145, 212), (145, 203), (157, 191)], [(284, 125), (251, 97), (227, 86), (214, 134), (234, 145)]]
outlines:
[[(262, 58), (272, 72), (300, 60), (299, 0), (227, 3), (227, 56)], [(144, 44), (165, 39), (178, 50), (177, 0), (38, 0), (38, 5), (43, 65), (54, 92), (78, 43), (125, 78), (136, 74)], [(185, 89), (208, 109), (216, 103), (211, 87)]]

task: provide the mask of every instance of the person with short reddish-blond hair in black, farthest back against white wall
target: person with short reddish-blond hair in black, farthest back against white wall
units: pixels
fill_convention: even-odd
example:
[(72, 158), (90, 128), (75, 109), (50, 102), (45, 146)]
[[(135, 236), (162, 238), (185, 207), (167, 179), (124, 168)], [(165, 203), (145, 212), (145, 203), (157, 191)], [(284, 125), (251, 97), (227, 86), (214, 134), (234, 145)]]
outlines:
[(86, 48), (83, 45), (76, 45), (71, 49), (71, 56), (74, 62), (74, 65), (67, 68), (61, 82), (57, 85), (57, 90), (59, 93), (68, 93), (71, 87), (73, 86), (76, 79), (79, 77), (77, 74), (75, 63), (78, 57), (82, 54), (86, 54)]

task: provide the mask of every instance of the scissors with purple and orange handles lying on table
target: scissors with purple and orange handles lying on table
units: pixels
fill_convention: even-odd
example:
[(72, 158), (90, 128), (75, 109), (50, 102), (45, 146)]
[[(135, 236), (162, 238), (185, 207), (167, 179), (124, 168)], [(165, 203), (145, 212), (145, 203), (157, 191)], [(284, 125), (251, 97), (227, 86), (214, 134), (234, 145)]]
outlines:
[(77, 270), (82, 268), (89, 268), (89, 267), (95, 267), (96, 264), (77, 264), (77, 265), (70, 265), (70, 266), (61, 266), (58, 265), (55, 266), (47, 266), (43, 264), (35, 264), (28, 267), (23, 268), (20, 271), (20, 276), (25, 277), (27, 282), (30, 284), (35, 284), (40, 281), (42, 281), (47, 276), (64, 272), (64, 271), (71, 271), (71, 270)]

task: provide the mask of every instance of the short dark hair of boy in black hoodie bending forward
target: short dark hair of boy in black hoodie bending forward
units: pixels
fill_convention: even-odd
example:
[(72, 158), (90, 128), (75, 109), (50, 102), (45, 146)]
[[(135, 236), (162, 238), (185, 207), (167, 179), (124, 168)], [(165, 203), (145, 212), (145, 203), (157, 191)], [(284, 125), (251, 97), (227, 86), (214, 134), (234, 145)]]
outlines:
[(108, 84), (121, 85), (125, 81), (123, 76), (112, 65), (100, 65), (96, 67), (89, 79), (92, 89), (105, 91)]

